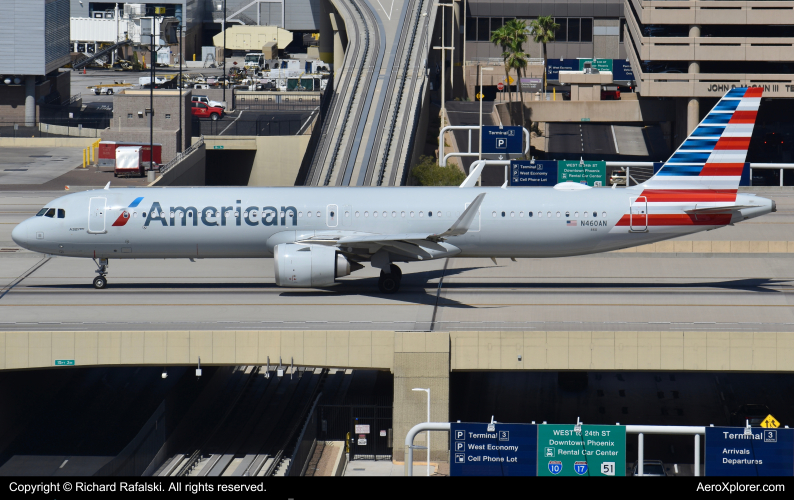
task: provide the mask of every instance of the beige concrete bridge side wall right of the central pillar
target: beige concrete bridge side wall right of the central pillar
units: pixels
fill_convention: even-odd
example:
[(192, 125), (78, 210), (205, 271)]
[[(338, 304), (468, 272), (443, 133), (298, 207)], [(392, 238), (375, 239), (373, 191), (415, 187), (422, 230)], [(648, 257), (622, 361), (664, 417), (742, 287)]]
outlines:
[(792, 333), (451, 332), (450, 338), (452, 370), (794, 369)]

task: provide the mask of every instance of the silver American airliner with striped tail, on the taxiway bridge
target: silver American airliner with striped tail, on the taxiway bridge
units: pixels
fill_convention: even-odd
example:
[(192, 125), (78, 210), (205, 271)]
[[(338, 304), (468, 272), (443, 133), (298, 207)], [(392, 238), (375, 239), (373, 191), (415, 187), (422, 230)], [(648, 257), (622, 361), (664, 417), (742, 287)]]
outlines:
[[(661, 169), (621, 189), (477, 187), (120, 188), (72, 193), (12, 232), (21, 247), (94, 259), (270, 258), (283, 287), (328, 287), (369, 262), (395, 293), (397, 263), (587, 255), (775, 211), (738, 193), (763, 89), (729, 90)], [(614, 186), (613, 186), (614, 188)]]

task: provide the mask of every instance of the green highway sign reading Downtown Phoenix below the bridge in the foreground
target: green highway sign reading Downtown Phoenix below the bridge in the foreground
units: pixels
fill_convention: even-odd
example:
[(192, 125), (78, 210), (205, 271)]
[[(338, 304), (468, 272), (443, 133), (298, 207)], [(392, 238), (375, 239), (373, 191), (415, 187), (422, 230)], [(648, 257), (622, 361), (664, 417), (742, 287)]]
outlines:
[(538, 476), (625, 475), (625, 426), (538, 426)]

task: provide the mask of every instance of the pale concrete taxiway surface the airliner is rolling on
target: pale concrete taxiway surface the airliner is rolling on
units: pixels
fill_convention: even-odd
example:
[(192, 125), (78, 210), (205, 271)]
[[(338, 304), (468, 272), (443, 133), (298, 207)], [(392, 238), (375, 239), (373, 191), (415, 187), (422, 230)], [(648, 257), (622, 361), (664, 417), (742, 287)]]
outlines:
[[(377, 291), (370, 267), (332, 288), (287, 289), (275, 286), (272, 259), (111, 260), (109, 287), (95, 290), (92, 261), (11, 241), (14, 225), (57, 195), (0, 202), (2, 330), (794, 331), (791, 243), (791, 253), (404, 264), (395, 295)], [(686, 239), (794, 242), (794, 192), (766, 196), (778, 212)]]

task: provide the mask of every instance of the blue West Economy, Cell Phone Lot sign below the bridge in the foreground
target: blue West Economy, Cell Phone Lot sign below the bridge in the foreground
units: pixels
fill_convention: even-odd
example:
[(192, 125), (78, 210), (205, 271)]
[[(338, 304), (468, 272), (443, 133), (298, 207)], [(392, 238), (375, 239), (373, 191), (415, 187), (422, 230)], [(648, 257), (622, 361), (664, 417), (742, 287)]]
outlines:
[(532, 424), (453, 423), (451, 476), (535, 476), (538, 431)]

